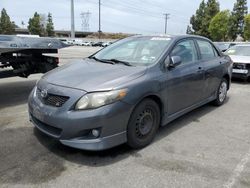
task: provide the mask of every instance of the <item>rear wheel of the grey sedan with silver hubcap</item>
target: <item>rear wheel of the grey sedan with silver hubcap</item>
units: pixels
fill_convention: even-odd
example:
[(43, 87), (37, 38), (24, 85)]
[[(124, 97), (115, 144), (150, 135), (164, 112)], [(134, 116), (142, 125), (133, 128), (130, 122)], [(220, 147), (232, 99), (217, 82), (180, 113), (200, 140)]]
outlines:
[(221, 106), (224, 104), (227, 98), (228, 81), (223, 78), (217, 89), (216, 99), (213, 101), (215, 106)]

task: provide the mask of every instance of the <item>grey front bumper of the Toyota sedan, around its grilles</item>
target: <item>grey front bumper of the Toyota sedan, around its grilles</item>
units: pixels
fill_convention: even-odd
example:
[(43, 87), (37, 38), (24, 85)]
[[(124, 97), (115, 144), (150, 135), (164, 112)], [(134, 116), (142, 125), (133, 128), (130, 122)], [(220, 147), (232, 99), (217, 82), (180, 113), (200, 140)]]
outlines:
[[(35, 89), (34, 89), (35, 90)], [(82, 92), (53, 86), (48, 90), (70, 93), (72, 97), (62, 107), (45, 105), (35, 96), (29, 97), (30, 121), (43, 133), (58, 139), (62, 144), (85, 150), (104, 150), (127, 141), (127, 124), (132, 105), (118, 101), (94, 110), (71, 110)], [(95, 138), (91, 130), (100, 131)]]

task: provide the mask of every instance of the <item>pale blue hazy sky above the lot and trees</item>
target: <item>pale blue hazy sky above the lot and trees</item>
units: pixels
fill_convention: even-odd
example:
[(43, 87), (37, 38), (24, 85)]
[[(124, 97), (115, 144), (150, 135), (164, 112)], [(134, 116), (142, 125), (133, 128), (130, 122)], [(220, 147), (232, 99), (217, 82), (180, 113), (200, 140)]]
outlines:
[[(98, 0), (74, 0), (76, 30), (82, 30), (81, 12), (90, 11), (90, 30), (98, 30)], [(232, 9), (236, 0), (219, 0), (221, 9)], [(189, 19), (201, 0), (102, 0), (102, 31), (154, 34), (164, 32), (164, 13), (170, 13), (168, 33), (186, 32)], [(250, 7), (250, 4), (248, 3)], [(1, 0), (11, 19), (27, 25), (37, 11), (51, 12), (56, 29), (70, 29), (70, 0)]]

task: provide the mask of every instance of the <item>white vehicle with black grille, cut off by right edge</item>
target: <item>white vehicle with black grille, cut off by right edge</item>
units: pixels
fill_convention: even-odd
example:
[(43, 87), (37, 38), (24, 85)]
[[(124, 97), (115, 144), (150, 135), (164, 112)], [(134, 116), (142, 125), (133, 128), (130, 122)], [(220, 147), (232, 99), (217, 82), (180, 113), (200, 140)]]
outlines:
[(233, 77), (247, 81), (250, 77), (250, 44), (238, 44), (229, 48), (225, 54), (233, 61)]

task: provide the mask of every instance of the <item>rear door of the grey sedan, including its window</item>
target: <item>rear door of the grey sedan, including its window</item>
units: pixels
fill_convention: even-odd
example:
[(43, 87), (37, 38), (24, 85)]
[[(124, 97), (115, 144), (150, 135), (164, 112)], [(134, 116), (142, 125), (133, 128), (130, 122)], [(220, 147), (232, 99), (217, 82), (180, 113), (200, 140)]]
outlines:
[(216, 48), (207, 40), (197, 39), (199, 56), (204, 69), (204, 93), (203, 99), (215, 94), (223, 75), (223, 59)]

